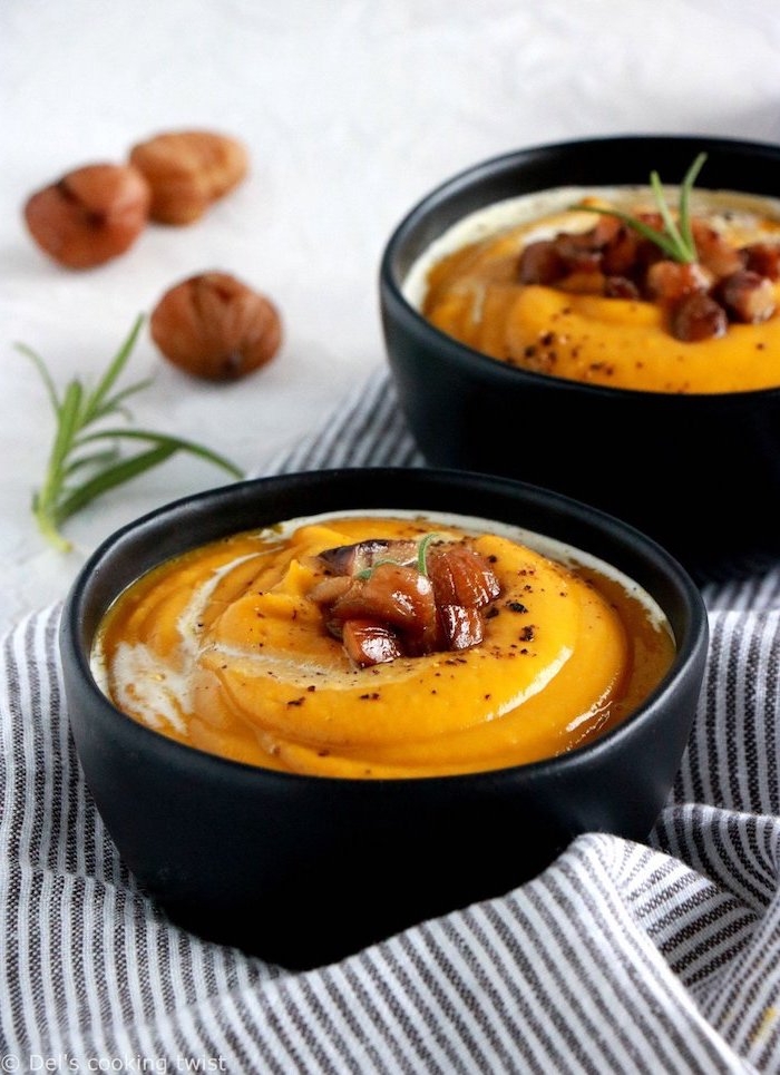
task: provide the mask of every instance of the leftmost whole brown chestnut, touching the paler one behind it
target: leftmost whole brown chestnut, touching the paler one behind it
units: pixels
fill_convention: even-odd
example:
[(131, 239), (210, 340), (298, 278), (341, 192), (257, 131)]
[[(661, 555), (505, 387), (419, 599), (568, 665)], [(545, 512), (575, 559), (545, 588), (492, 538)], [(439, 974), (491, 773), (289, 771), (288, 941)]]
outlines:
[(124, 254), (146, 227), (150, 189), (129, 165), (90, 164), (35, 192), (25, 222), (38, 246), (67, 268)]

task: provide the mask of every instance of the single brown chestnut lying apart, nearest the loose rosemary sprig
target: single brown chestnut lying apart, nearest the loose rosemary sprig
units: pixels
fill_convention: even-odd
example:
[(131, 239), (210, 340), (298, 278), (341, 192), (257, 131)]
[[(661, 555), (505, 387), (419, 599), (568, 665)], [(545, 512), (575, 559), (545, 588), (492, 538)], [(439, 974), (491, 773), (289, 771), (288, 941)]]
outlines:
[(162, 353), (193, 377), (235, 381), (276, 354), (276, 306), (228, 273), (191, 276), (165, 292), (149, 319)]

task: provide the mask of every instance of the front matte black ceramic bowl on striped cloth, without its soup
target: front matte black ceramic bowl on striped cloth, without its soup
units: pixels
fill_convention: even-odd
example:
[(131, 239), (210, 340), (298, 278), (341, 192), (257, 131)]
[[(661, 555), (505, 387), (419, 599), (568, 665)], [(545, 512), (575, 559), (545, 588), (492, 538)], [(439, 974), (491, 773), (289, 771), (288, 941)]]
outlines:
[[(635, 579), (666, 613), (674, 664), (589, 746), (470, 775), (291, 775), (183, 746), (117, 710), (89, 654), (114, 599), (203, 543), (344, 509), (456, 511), (520, 525)], [(655, 543), (564, 497), (450, 471), (341, 470), (240, 482), (160, 508), (92, 555), (68, 596), (60, 648), (88, 788), (120, 854), (176, 922), (289, 967), (335, 959), (534, 877), (588, 830), (643, 839), (667, 798), (701, 690), (708, 620)]]

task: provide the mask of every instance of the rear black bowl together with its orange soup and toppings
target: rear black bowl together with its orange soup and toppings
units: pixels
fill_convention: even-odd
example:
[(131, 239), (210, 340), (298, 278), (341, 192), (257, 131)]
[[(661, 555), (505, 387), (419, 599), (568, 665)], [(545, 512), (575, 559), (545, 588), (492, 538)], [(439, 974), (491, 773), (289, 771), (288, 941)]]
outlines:
[(777, 556), (779, 180), (778, 147), (647, 136), (520, 150), (427, 195), (380, 273), (427, 460), (594, 504), (696, 575)]

